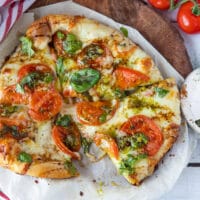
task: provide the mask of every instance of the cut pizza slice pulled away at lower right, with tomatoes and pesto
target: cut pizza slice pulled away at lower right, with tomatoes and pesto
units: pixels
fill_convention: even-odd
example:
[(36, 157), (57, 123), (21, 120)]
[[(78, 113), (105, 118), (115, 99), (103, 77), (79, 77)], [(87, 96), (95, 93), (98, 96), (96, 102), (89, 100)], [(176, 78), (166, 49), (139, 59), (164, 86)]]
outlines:
[(174, 79), (139, 87), (115, 106), (93, 104), (77, 103), (66, 111), (82, 137), (107, 152), (119, 173), (139, 185), (178, 137), (180, 102)]

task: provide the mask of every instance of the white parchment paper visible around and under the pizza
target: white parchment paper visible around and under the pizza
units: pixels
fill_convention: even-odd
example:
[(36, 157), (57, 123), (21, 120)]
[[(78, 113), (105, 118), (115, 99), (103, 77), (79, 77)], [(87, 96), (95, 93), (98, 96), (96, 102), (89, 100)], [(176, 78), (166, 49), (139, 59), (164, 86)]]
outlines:
[[(180, 85), (183, 78), (178, 72), (157, 52), (135, 29), (119, 24), (112, 19), (105, 17), (95, 11), (82, 7), (71, 1), (50, 5), (33, 10), (36, 18), (47, 14), (71, 14), (85, 15), (86, 17), (96, 19), (102, 23), (108, 24), (116, 29), (124, 26), (128, 29), (129, 37), (148, 52), (157, 63), (159, 69), (165, 77), (174, 77)], [(31, 14), (26, 14), (31, 18)], [(20, 24), (26, 28), (27, 17), (21, 18)], [(29, 19), (29, 22), (32, 19)], [(23, 29), (25, 30), (25, 29)], [(12, 33), (4, 43), (13, 46), (17, 45), (17, 40), (13, 35), (17, 34), (18, 27), (14, 27)], [(11, 43), (12, 42), (12, 43)], [(0, 52), (3, 52), (5, 46), (0, 46)], [(9, 52), (10, 50), (10, 52)], [(12, 48), (6, 49), (9, 55)], [(0, 60), (5, 55), (0, 54)], [(106, 158), (98, 163), (91, 164), (87, 159), (78, 165), (81, 176), (69, 180), (47, 180), (36, 179), (28, 176), (21, 176), (0, 168), (0, 189), (4, 191), (11, 200), (76, 200), (76, 199), (112, 199), (112, 200), (154, 200), (168, 192), (180, 176), (183, 168), (195, 146), (193, 136), (188, 136), (187, 125), (183, 123), (181, 134), (160, 163), (155, 173), (145, 180), (140, 187), (135, 187), (127, 183), (123, 177), (117, 174), (111, 161)], [(82, 192), (80, 194), (80, 192)]]

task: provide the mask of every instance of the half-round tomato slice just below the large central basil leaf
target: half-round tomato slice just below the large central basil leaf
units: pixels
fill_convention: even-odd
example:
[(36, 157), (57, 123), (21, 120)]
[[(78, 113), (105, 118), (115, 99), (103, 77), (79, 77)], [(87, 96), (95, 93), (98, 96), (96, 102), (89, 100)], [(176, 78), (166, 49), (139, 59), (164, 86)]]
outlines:
[(86, 125), (101, 125), (113, 117), (118, 104), (118, 101), (79, 102), (76, 104), (78, 120)]

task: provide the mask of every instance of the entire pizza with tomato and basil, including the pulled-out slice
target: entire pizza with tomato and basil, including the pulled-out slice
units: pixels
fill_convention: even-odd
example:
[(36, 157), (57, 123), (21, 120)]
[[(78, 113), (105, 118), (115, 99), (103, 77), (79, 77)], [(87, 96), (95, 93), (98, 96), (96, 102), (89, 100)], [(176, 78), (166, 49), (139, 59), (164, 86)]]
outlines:
[(133, 185), (150, 176), (181, 123), (179, 91), (128, 37), (83, 16), (48, 15), (20, 38), (0, 72), (0, 166), (76, 177), (104, 152)]

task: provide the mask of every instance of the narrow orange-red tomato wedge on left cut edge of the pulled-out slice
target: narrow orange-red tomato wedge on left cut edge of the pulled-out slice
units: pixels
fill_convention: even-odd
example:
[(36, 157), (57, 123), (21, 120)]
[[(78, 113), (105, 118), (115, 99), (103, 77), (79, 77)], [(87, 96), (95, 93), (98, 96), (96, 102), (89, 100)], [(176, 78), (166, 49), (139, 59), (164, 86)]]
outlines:
[(100, 146), (110, 157), (119, 158), (119, 150), (115, 140), (109, 135), (96, 133), (94, 142)]

